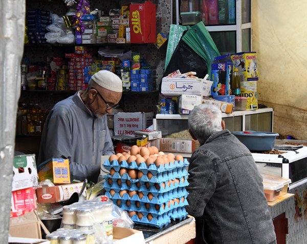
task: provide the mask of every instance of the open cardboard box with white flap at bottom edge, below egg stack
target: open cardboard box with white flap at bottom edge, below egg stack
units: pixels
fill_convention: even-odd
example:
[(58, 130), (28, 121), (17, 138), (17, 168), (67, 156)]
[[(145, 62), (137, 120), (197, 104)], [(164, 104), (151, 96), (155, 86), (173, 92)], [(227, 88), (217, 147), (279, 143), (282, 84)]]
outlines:
[(113, 241), (115, 244), (145, 244), (142, 231), (120, 227), (113, 227)]

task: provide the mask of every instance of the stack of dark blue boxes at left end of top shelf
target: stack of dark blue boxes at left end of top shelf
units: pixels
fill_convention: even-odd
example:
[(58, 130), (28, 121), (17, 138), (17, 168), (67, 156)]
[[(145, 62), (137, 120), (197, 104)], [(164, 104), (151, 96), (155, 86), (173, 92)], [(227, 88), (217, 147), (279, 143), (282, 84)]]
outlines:
[(44, 44), (46, 42), (46, 27), (52, 22), (49, 19), (49, 11), (46, 10), (28, 10), (27, 26), (28, 38), (30, 44)]

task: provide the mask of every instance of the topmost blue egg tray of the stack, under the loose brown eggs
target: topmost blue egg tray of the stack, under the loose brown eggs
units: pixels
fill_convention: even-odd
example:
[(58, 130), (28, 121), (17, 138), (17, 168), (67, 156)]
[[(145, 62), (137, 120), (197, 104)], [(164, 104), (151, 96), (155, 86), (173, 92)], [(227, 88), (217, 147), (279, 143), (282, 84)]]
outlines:
[(159, 167), (157, 167), (155, 164), (147, 166), (145, 162), (141, 162), (140, 165), (137, 165), (136, 161), (132, 161), (130, 162), (130, 164), (128, 164), (127, 161), (122, 161), (121, 163), (118, 162), (118, 160), (113, 160), (112, 162), (110, 162), (108, 159), (106, 159), (104, 161), (104, 168), (107, 169), (108, 171), (114, 168), (114, 170), (118, 172), (120, 168), (127, 168), (127, 169), (142, 170), (144, 174), (147, 174), (148, 171), (150, 171), (152, 174), (162, 173), (165, 171), (171, 171), (176, 168), (187, 167), (188, 165), (189, 162), (186, 158), (183, 161), (175, 160), (174, 162), (169, 162), (169, 164), (160, 165)]

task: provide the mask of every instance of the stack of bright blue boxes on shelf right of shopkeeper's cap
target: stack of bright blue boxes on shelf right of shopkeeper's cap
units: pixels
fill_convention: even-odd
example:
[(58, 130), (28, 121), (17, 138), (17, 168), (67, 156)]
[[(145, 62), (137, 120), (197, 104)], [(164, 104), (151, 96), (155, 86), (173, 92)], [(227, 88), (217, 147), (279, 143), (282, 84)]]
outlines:
[(131, 70), (131, 91), (148, 92), (153, 90), (155, 69)]

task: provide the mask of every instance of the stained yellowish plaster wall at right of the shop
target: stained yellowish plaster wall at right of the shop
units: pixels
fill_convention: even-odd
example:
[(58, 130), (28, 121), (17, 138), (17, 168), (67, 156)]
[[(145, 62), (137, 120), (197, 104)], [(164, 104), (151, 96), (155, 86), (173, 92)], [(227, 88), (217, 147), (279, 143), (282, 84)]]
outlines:
[(305, 0), (252, 1), (260, 104), (274, 108), (274, 131), (307, 139), (307, 8)]

